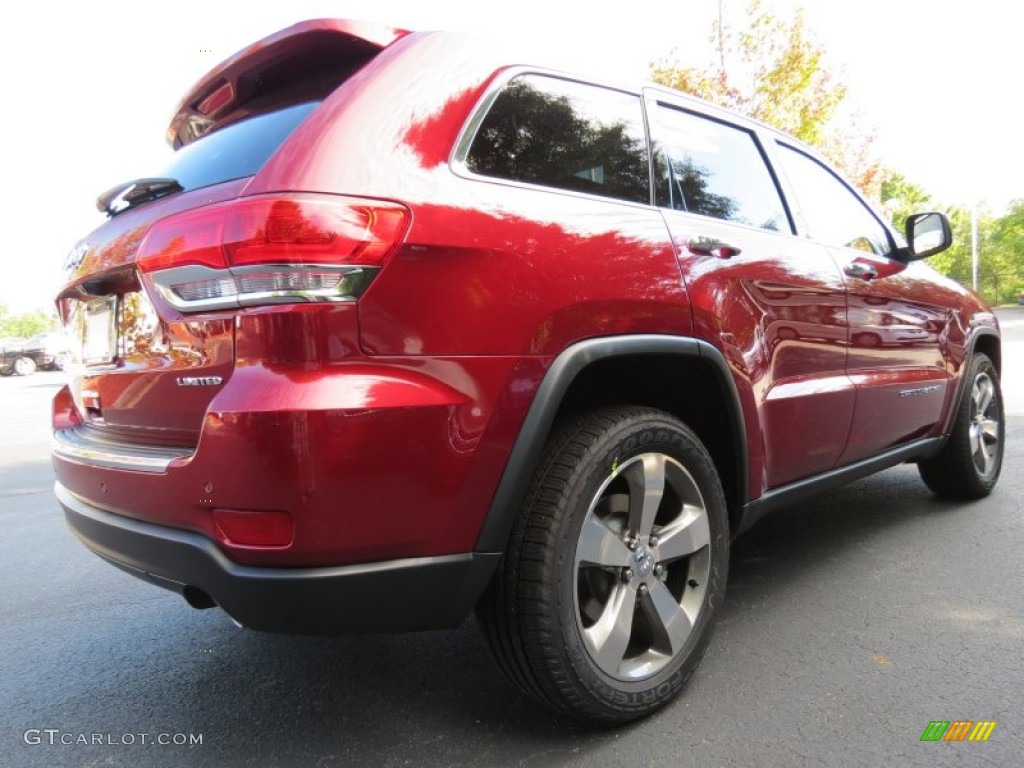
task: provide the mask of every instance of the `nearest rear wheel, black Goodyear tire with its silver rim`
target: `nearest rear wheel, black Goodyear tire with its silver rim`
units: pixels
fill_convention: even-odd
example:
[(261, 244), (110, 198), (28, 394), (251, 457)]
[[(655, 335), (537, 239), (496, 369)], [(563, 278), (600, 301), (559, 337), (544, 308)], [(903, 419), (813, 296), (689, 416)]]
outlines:
[(524, 693), (584, 722), (651, 714), (708, 648), (728, 528), (715, 465), (682, 422), (639, 407), (568, 420), (477, 606), (492, 655)]

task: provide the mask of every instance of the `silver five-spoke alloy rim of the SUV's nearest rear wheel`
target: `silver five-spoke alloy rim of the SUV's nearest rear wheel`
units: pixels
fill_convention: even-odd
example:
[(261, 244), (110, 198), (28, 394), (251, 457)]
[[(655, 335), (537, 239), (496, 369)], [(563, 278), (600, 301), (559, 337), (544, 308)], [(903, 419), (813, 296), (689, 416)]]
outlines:
[(700, 489), (665, 454), (628, 460), (601, 484), (575, 550), (575, 615), (607, 675), (641, 680), (685, 646), (703, 605), (711, 537)]

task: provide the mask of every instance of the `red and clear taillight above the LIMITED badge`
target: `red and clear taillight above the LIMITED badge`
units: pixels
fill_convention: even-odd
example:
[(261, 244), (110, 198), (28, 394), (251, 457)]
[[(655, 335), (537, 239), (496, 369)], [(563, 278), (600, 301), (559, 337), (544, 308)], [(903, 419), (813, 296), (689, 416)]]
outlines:
[(243, 198), (169, 216), (136, 266), (180, 311), (354, 301), (409, 228), (396, 203), (314, 195)]

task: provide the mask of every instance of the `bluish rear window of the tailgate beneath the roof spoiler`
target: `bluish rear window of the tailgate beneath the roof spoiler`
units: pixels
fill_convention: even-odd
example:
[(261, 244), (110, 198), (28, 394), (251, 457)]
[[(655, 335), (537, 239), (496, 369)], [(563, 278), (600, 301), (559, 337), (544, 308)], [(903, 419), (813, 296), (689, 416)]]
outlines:
[(230, 123), (178, 150), (160, 175), (185, 189), (252, 176), (318, 104), (306, 101)]

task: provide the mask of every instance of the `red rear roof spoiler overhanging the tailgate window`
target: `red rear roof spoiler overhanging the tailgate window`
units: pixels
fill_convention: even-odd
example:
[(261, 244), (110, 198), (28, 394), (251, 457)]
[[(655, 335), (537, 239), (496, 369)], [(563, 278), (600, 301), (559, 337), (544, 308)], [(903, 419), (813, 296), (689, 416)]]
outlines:
[(300, 22), (274, 33), (217, 65), (191, 87), (175, 110), (167, 142), (178, 150), (237, 116), (257, 97), (301, 81), (303, 74), (315, 80), (332, 67), (359, 67), (408, 34), (338, 18)]

